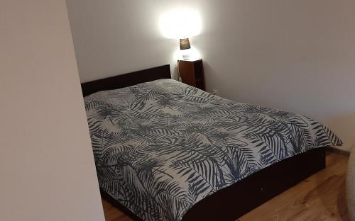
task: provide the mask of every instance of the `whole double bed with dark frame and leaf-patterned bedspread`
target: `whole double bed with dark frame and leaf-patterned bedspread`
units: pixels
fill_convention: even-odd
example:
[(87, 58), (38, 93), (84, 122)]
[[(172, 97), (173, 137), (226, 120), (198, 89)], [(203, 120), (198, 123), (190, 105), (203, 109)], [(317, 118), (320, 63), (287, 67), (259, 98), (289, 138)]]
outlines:
[(170, 79), (169, 65), (82, 92), (102, 196), (134, 220), (236, 220), (342, 145), (310, 118)]

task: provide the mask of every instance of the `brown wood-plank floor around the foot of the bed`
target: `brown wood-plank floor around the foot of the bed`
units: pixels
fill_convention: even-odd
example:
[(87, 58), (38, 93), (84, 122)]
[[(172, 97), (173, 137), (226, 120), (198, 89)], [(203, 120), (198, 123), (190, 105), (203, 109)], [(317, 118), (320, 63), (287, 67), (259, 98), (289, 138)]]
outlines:
[[(327, 154), (327, 168), (298, 183), (238, 220), (342, 220), (348, 221), (345, 174), (348, 157)], [(102, 200), (107, 221), (131, 221)]]

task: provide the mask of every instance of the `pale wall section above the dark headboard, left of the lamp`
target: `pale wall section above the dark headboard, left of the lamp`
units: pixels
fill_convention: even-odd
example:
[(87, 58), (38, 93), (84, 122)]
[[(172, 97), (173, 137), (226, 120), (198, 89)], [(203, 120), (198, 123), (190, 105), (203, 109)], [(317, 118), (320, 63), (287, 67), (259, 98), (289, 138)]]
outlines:
[(70, 26), (82, 82), (171, 64), (178, 40), (164, 38), (160, 15), (202, 1), (67, 0)]

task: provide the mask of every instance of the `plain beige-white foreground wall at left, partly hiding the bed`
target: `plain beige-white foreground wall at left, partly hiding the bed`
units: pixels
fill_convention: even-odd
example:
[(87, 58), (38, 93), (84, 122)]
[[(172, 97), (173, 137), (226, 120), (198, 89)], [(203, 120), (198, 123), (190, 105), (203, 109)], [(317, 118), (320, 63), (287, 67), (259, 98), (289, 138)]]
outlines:
[(104, 220), (64, 0), (0, 1), (0, 220)]

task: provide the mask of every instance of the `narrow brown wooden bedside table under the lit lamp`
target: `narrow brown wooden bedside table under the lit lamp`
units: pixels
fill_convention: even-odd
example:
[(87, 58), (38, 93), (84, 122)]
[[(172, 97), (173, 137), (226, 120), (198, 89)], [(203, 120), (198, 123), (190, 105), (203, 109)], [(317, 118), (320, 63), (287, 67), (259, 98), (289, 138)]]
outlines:
[(178, 60), (178, 69), (182, 83), (205, 90), (204, 71), (201, 60)]

